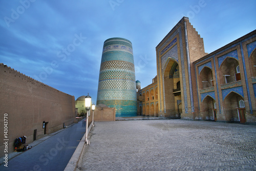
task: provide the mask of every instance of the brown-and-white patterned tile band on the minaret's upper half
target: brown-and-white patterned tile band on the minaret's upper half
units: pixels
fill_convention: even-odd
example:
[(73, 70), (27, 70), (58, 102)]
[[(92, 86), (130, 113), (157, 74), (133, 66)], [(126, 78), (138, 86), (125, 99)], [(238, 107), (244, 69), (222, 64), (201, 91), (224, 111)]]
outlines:
[(122, 60), (102, 62), (100, 65), (100, 72), (105, 70), (129, 70), (135, 72), (133, 63)]

